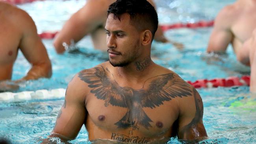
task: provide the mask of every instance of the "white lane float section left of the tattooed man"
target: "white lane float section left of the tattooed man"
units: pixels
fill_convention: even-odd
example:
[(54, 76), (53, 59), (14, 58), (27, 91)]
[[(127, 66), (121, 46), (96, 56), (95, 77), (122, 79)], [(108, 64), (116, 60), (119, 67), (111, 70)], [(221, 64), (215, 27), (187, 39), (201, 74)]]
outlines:
[(2, 101), (20, 101), (31, 99), (50, 99), (50, 98), (63, 98), (65, 97), (66, 89), (52, 89), (52, 90), (36, 90), (36, 91), (23, 91), (23, 92), (2, 92), (0, 93), (0, 102)]

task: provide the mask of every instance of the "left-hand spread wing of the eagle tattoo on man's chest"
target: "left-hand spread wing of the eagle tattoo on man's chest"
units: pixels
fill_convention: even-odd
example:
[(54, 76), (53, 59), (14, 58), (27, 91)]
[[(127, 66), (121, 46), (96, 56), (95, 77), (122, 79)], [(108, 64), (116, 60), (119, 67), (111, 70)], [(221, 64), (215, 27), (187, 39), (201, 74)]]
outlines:
[(78, 77), (88, 83), (88, 87), (93, 88), (91, 93), (105, 101), (107, 107), (109, 103), (113, 106), (126, 107), (125, 100), (121, 95), (122, 87), (119, 87), (116, 82), (111, 82), (108, 78), (108, 69), (104, 69), (103, 66), (96, 67), (89, 70), (82, 70)]

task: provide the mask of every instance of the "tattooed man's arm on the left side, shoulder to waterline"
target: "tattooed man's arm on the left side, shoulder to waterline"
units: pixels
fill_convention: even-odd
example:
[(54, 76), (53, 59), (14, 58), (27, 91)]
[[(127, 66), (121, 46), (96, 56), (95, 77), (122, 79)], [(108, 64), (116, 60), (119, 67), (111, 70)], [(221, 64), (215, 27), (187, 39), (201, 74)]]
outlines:
[(84, 85), (78, 76), (75, 76), (67, 87), (65, 101), (57, 116), (51, 137), (59, 137), (62, 140), (76, 138), (85, 122), (86, 113)]

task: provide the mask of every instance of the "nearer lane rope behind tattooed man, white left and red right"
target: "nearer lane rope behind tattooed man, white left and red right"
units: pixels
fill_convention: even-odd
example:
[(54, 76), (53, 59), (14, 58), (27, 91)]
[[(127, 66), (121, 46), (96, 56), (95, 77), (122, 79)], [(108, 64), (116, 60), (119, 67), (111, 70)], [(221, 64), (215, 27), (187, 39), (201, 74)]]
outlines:
[[(213, 87), (233, 87), (233, 86), (249, 86), (250, 76), (217, 78), (217, 79), (199, 79), (195, 82), (187, 81), (195, 88), (213, 88)], [(52, 99), (64, 98), (65, 89), (52, 89), (52, 90), (36, 90), (36, 91), (23, 91), (23, 92), (2, 92), (0, 93), (0, 102), (10, 101), (24, 101), (33, 99)]]

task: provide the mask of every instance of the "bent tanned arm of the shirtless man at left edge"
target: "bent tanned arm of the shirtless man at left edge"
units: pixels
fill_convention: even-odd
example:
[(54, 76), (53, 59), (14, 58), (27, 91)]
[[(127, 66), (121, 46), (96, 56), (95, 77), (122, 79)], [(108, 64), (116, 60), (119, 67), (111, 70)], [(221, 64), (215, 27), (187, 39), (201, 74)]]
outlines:
[(37, 35), (35, 23), (24, 11), (19, 16), (21, 17), (20, 28), (22, 29), (19, 48), (26, 59), (32, 64), (32, 68), (20, 80), (38, 79), (41, 77), (50, 78), (52, 66), (46, 48)]

